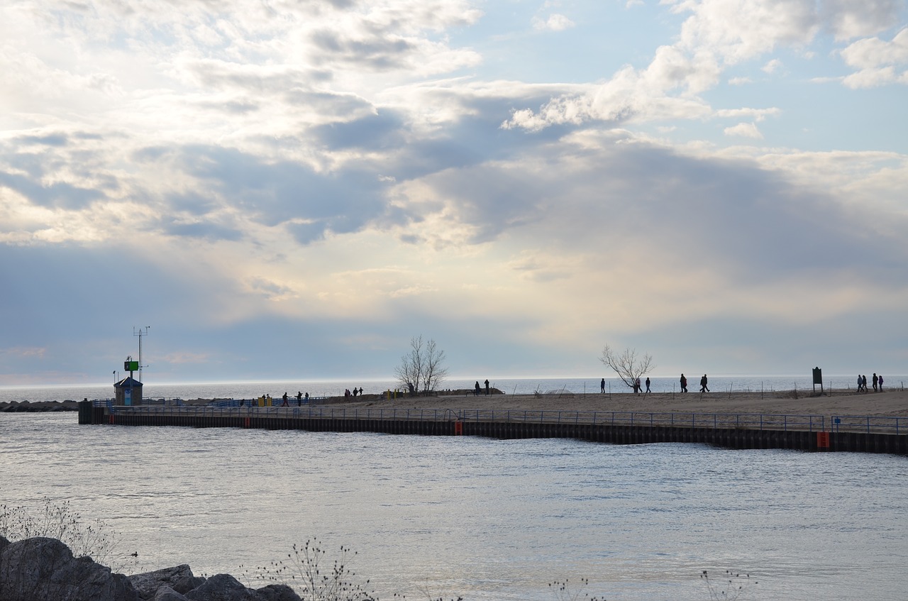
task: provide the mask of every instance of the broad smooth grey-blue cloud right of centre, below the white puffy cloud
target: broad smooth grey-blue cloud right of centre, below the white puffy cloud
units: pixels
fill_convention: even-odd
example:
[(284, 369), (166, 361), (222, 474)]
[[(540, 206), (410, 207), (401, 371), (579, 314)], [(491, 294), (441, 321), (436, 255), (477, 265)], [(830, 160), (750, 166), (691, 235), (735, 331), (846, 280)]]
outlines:
[(475, 228), (473, 242), (526, 227), (523, 235), (544, 231), (547, 244), (566, 249), (645, 241), (656, 256), (724, 265), (742, 281), (830, 270), (893, 277), (908, 261), (904, 241), (870, 235), (871, 220), (755, 163), (696, 159), (645, 143), (561, 145), (530, 149), (524, 158), (427, 181)]

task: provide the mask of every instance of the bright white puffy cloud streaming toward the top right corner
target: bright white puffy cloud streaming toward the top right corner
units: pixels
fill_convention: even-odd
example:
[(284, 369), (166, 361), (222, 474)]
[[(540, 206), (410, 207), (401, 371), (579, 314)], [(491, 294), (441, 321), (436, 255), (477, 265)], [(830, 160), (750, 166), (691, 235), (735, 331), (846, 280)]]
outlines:
[[(503, 127), (538, 132), (552, 125), (590, 121), (618, 125), (629, 120), (640, 123), (702, 118), (711, 108), (696, 94), (715, 87), (730, 66), (758, 58), (778, 46), (802, 49), (826, 31), (847, 38), (874, 33), (898, 22), (898, 4), (890, 0), (873, 2), (866, 13), (863, 6), (845, 0), (822, 6), (808, 0), (668, 0), (664, 4), (678, 15), (688, 16), (676, 43), (659, 46), (645, 68), (626, 65), (594, 89), (559, 94), (538, 110), (516, 109)], [(893, 47), (882, 51), (856, 47), (844, 56), (846, 60), (864, 62), (869, 59), (859, 56), (901, 56), (901, 42), (899, 37)], [(773, 58), (763, 69), (774, 73), (781, 65), (780, 59)], [(854, 87), (902, 79), (891, 70), (877, 70), (855, 74), (844, 79), (844, 84)], [(743, 81), (735, 79), (734, 84)]]

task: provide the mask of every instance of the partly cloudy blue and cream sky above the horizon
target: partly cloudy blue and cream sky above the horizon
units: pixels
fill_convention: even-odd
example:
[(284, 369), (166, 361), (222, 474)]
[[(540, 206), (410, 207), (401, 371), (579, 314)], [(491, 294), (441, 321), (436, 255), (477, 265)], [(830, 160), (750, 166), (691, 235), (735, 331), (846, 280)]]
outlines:
[(908, 5), (5, 0), (0, 385), (908, 373)]

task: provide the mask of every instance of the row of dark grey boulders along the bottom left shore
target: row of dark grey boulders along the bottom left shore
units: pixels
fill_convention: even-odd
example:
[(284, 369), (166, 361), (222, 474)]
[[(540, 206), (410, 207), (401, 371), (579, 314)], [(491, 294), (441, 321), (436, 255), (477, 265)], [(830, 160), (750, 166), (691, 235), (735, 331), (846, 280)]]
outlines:
[(55, 538), (11, 543), (0, 537), (0, 599), (3, 601), (301, 601), (290, 586), (252, 589), (229, 574), (194, 576), (189, 566), (125, 576), (73, 557)]

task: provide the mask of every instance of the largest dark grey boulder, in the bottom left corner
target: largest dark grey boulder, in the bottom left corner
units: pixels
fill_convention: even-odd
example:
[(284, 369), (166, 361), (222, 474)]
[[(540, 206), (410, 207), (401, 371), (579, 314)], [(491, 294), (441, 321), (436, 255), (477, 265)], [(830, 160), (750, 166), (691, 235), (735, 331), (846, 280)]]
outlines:
[(26, 538), (0, 551), (0, 599), (4, 601), (139, 601), (129, 579), (91, 557), (74, 558), (54, 538)]

